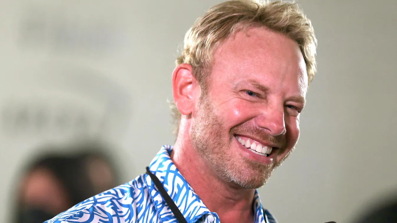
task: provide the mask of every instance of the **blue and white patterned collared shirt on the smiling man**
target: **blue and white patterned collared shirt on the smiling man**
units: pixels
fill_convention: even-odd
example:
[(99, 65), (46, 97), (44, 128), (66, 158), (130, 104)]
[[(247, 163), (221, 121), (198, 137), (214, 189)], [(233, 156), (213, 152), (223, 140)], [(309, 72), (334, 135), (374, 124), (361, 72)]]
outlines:
[[(163, 146), (150, 163), (149, 169), (160, 179), (167, 193), (188, 223), (220, 223), (210, 212), (173, 164), (172, 146)], [(255, 191), (254, 223), (277, 223), (273, 215), (262, 210)], [(115, 187), (60, 213), (45, 223), (176, 223), (173, 213), (148, 174)]]

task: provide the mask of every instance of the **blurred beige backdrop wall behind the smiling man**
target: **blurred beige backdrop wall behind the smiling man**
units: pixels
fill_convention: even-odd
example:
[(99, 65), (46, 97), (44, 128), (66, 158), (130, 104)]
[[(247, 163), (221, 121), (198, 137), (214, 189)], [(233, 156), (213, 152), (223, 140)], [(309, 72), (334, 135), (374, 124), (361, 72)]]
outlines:
[[(173, 143), (174, 59), (218, 2), (0, 1), (1, 222), (42, 143), (100, 137), (125, 182)], [(350, 222), (397, 189), (397, 3), (299, 3), (319, 40), (318, 73), (298, 149), (259, 191), (280, 223)]]

